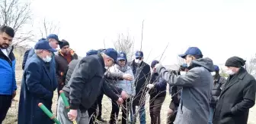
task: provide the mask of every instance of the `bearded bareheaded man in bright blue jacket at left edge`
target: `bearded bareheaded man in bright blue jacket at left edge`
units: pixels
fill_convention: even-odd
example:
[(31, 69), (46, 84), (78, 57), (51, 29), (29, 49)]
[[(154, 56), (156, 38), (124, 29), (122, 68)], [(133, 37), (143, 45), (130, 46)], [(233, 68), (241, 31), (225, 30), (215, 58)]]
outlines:
[(0, 123), (5, 119), (11, 100), (16, 95), (15, 57), (13, 46), (9, 46), (14, 38), (14, 29), (0, 26)]

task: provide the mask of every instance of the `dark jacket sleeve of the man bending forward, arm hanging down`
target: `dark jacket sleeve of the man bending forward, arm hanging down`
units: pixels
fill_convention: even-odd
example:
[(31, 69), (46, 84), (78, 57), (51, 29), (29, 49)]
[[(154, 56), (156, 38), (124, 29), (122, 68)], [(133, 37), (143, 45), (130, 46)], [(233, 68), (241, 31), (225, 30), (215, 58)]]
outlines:
[(69, 80), (69, 82), (71, 82), (69, 99), (70, 108), (73, 110), (77, 110), (82, 102), (82, 89), (84, 88), (85, 83), (96, 74), (94, 68), (97, 65), (94, 64), (97, 64), (97, 62), (91, 60), (91, 58), (83, 59), (79, 61), (72, 73), (72, 78)]

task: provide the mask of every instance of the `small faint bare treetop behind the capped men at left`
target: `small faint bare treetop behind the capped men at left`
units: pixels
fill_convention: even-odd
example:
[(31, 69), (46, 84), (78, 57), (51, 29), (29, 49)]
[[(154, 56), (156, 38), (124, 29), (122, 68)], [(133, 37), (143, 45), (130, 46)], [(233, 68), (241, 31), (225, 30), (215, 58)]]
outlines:
[(46, 38), (46, 36), (50, 35), (51, 33), (59, 33), (59, 23), (55, 23), (44, 18), (43, 21), (40, 23), (41, 38)]

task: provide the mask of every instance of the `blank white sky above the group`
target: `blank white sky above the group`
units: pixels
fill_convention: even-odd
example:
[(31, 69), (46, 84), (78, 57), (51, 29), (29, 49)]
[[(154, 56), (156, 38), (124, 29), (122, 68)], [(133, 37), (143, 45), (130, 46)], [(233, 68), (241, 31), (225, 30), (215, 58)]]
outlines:
[[(223, 64), (234, 55), (251, 57), (256, 41), (255, 0), (34, 0), (34, 20), (58, 21), (59, 39), (69, 41), (80, 56), (90, 49), (113, 48), (119, 33), (130, 33), (149, 61), (177, 62), (189, 46)], [(35, 30), (38, 30), (35, 28)], [(162, 59), (163, 59), (162, 58)], [(158, 57), (159, 59), (159, 57)]]

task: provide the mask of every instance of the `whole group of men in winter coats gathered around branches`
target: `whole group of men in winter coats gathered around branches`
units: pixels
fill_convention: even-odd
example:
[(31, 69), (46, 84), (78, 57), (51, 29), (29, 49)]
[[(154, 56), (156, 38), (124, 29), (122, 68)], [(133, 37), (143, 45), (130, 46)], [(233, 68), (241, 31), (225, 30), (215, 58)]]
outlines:
[[(17, 90), (13, 38), (11, 27), (0, 27), (0, 122)], [(158, 60), (149, 66), (143, 61), (142, 51), (136, 51), (132, 62), (114, 48), (88, 51), (79, 60), (69, 42), (50, 34), (24, 54), (18, 124), (53, 123), (37, 105), (43, 103), (51, 110), (56, 88), (58, 93), (64, 92), (70, 104), (68, 110), (58, 94), (56, 113), (62, 124), (104, 121), (97, 114), (103, 95), (112, 101), (110, 123), (117, 122), (121, 107), (122, 123), (135, 123), (139, 113), (139, 122), (145, 124), (148, 92), (151, 123), (158, 124), (167, 83), (172, 97), (168, 123), (246, 124), (249, 109), (254, 106), (256, 81), (243, 67), (245, 60), (226, 60), (229, 77), (224, 79), (219, 75), (219, 67), (209, 57), (203, 57), (199, 48), (190, 47), (180, 57), (185, 64), (178, 73), (166, 70)], [(130, 113), (130, 121), (126, 113)]]

